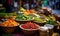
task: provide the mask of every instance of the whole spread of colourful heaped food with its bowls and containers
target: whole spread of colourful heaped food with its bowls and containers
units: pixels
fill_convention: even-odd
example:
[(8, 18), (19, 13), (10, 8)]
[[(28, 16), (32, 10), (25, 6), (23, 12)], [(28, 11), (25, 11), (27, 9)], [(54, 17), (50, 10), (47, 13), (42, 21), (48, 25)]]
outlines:
[(0, 32), (1, 34), (10, 33), (13, 36), (59, 35), (59, 32), (54, 32), (57, 29), (60, 31), (60, 22), (51, 13), (52, 10), (47, 8), (42, 9), (42, 11), (21, 8), (19, 12), (0, 13)]

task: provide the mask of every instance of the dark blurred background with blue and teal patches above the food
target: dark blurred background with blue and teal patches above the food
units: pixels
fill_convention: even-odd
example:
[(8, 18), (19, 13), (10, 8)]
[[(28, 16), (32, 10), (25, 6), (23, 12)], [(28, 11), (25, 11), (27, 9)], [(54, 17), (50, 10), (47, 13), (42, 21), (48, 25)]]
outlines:
[[(20, 7), (25, 9), (35, 9), (48, 7), (53, 13), (60, 14), (60, 0), (0, 0), (0, 11), (18, 11)], [(3, 11), (3, 12), (4, 12)]]

